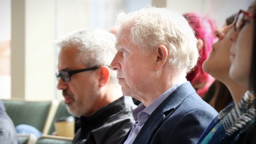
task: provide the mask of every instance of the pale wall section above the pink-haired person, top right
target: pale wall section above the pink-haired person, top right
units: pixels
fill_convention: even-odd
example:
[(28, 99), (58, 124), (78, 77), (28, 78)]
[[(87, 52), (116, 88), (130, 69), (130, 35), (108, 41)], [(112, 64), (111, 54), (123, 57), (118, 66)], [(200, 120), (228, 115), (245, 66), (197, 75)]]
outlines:
[(201, 12), (216, 20), (222, 27), (225, 19), (240, 9), (246, 10), (253, 0), (167, 0), (167, 9), (186, 12)]

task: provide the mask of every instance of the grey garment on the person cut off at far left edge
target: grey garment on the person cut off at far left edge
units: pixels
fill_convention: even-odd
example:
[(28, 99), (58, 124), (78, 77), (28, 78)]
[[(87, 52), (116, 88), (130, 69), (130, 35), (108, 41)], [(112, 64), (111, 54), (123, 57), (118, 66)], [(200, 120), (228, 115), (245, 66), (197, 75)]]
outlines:
[(18, 136), (14, 124), (5, 112), (5, 106), (0, 100), (0, 144), (17, 144)]

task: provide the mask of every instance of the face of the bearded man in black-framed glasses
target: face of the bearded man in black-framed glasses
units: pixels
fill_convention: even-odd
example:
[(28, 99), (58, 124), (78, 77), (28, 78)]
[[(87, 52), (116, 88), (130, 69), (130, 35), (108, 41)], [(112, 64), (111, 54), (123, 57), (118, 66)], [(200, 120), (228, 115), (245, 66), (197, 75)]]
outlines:
[[(77, 48), (62, 48), (58, 61), (59, 72), (85, 69), (85, 65), (77, 59), (77, 55)], [(75, 73), (68, 82), (59, 78), (57, 89), (62, 90), (62, 95), (71, 114), (78, 117), (87, 115), (96, 106), (99, 94), (94, 75), (95, 71)]]

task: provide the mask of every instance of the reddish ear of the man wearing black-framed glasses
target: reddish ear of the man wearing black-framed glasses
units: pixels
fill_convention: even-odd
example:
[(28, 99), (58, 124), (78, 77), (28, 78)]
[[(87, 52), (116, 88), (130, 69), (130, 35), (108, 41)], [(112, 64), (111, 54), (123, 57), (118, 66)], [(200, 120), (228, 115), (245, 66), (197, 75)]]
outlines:
[(99, 87), (105, 86), (109, 82), (110, 69), (107, 66), (100, 67)]

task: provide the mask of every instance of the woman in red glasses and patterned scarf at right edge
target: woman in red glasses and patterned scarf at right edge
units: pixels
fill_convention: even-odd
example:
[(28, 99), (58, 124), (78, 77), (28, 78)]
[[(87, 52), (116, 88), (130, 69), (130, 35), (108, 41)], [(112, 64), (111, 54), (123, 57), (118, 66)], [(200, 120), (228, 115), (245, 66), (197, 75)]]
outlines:
[[(203, 132), (200, 144), (248, 143), (247, 135), (255, 134), (255, 64), (251, 63), (255, 2), (248, 11), (240, 11), (233, 28), (228, 32), (232, 41), (230, 49), (231, 79), (244, 86), (247, 91), (233, 96), (231, 103), (211, 122)], [(254, 53), (255, 57), (255, 53)], [(252, 65), (251, 65), (252, 64)], [(252, 67), (251, 67), (252, 66)], [(253, 75), (250, 77), (250, 71)], [(251, 82), (249, 82), (251, 80)], [(249, 131), (248, 131), (249, 130)], [(255, 135), (254, 135), (255, 137)], [(250, 141), (253, 143), (253, 141)]]

